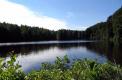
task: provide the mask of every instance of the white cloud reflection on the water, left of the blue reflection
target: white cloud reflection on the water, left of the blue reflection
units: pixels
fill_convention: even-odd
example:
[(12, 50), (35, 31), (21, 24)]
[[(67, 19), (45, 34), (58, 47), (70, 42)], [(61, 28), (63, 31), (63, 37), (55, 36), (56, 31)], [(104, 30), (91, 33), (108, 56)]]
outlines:
[(30, 53), (28, 55), (19, 55), (17, 61), (22, 65), (24, 71), (38, 69), (42, 62), (53, 62), (57, 56), (63, 57), (66, 54), (65, 50), (60, 50), (57, 47)]

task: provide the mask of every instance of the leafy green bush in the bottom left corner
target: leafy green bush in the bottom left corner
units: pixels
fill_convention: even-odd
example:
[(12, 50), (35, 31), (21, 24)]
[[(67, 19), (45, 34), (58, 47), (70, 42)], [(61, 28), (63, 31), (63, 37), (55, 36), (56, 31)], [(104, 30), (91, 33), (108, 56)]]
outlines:
[(16, 55), (10, 57), (9, 61), (0, 58), (0, 80), (23, 80), (24, 72), (20, 69), (20, 65), (14, 64)]

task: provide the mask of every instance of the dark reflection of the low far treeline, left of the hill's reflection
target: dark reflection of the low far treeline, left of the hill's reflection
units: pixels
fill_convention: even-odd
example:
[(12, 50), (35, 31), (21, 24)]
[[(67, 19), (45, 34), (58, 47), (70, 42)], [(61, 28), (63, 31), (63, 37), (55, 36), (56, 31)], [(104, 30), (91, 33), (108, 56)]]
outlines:
[(84, 43), (70, 43), (70, 44), (36, 44), (36, 45), (14, 45), (14, 46), (1, 46), (0, 56), (9, 56), (9, 52), (14, 51), (15, 54), (28, 55), (30, 53), (38, 53), (39, 51), (48, 50), (50, 48), (58, 47), (59, 49), (69, 49), (74, 47), (83, 46)]

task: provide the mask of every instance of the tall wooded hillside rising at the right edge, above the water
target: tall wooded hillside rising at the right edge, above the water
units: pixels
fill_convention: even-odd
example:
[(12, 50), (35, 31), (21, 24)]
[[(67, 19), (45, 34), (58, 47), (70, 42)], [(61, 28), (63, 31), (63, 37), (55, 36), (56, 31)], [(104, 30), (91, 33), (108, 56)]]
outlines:
[(122, 7), (106, 22), (91, 26), (86, 30), (87, 38), (91, 40), (107, 40), (122, 42)]

